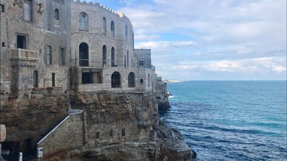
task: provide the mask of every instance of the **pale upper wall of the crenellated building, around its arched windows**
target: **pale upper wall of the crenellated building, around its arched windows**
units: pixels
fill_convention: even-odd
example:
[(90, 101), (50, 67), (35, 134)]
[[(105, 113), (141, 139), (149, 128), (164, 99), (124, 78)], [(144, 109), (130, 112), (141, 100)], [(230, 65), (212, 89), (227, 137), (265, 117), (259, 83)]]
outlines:
[[(79, 14), (88, 15), (88, 31), (79, 30)], [(103, 34), (102, 19), (106, 18), (106, 34)], [(111, 21), (115, 23), (115, 37), (111, 35)], [(125, 28), (128, 27), (128, 38), (125, 36)], [(72, 59), (79, 59), (79, 45), (82, 42), (88, 44), (89, 66), (101, 67), (103, 62), (103, 45), (106, 45), (108, 60), (106, 66), (111, 66), (111, 49), (115, 48), (116, 65), (124, 67), (124, 55), (126, 64), (131, 62), (133, 55), (132, 24), (126, 16), (120, 17), (100, 4), (82, 3), (80, 1), (71, 3), (71, 48)], [(129, 51), (129, 60), (127, 60)], [(74, 62), (72, 62), (74, 63)], [(79, 61), (76, 62), (77, 66)]]

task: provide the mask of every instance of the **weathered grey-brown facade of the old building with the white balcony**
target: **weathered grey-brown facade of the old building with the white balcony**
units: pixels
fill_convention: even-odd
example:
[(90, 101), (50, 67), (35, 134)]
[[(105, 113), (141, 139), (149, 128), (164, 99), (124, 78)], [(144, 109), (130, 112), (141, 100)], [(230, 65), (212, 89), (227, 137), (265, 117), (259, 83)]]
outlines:
[[(30, 20), (25, 20), (25, 5), (30, 3)], [(55, 86), (68, 88), (70, 67), (70, 0), (3, 0), (1, 12), (1, 83), (11, 82), (11, 94), (30, 95), (34, 88)], [(59, 25), (54, 25), (54, 10), (59, 10)], [(47, 63), (47, 46), (51, 46), (51, 63)], [(21, 49), (19, 49), (21, 48)], [(65, 60), (62, 61), (62, 50)], [(64, 63), (62, 63), (64, 62)], [(37, 71), (37, 85), (34, 85)], [(53, 85), (54, 86), (54, 85)]]

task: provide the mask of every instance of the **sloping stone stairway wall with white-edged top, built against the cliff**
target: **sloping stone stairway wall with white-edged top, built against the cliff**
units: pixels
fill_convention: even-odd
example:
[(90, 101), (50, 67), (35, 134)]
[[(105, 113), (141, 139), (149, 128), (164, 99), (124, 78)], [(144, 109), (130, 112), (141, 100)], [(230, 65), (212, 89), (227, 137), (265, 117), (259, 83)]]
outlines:
[(37, 144), (43, 155), (83, 146), (85, 142), (84, 112), (69, 114), (53, 131)]

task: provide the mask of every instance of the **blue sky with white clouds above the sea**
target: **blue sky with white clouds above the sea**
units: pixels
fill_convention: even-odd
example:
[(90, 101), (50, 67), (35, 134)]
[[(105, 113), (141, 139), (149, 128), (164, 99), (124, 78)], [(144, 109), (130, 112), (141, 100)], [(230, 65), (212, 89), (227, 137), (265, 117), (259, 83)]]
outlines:
[(286, 0), (90, 1), (130, 18), (163, 79), (286, 80)]

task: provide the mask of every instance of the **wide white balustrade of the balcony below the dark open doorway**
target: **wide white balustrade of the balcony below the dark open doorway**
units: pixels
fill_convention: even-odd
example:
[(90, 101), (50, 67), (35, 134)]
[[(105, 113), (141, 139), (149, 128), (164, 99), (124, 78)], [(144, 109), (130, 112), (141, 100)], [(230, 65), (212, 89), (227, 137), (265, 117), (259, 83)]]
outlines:
[(11, 49), (11, 58), (27, 58), (38, 60), (38, 51), (28, 49)]

